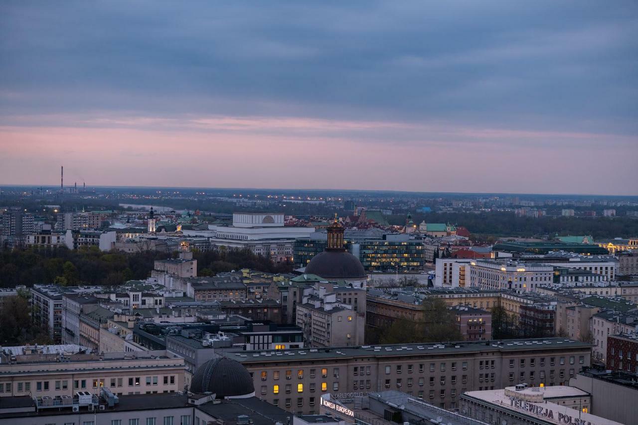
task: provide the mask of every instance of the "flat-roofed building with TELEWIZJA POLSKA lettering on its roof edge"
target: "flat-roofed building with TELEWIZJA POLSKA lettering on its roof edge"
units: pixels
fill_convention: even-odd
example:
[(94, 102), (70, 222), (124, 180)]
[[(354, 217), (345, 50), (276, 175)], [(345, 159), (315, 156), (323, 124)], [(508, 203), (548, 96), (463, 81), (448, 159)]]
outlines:
[(527, 387), (496, 391), (468, 391), (461, 396), (461, 414), (490, 424), (507, 425), (621, 425), (593, 415), (591, 396), (574, 387)]

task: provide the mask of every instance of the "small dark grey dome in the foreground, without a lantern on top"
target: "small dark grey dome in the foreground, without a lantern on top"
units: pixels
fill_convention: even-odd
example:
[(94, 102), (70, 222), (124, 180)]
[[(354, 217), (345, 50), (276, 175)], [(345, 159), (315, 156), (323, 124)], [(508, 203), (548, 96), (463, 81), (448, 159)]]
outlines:
[(216, 357), (202, 364), (191, 380), (191, 392), (214, 392), (217, 398), (247, 396), (255, 392), (253, 378), (241, 363)]

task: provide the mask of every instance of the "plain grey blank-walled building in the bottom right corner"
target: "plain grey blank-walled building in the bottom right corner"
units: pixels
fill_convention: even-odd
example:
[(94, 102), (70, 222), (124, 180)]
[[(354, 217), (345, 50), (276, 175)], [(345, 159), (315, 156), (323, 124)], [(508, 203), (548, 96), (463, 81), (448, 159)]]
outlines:
[[(638, 375), (587, 369), (569, 380), (569, 385), (591, 395), (591, 412), (609, 421), (634, 424), (638, 417)], [(594, 422), (592, 422), (593, 424)], [(607, 424), (599, 421), (597, 424)]]

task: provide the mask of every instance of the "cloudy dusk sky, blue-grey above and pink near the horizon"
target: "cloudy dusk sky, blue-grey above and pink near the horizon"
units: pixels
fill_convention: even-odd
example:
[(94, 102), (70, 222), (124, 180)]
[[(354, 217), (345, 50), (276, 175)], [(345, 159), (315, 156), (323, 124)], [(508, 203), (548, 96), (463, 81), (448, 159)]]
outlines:
[(2, 1), (0, 184), (638, 195), (638, 3)]

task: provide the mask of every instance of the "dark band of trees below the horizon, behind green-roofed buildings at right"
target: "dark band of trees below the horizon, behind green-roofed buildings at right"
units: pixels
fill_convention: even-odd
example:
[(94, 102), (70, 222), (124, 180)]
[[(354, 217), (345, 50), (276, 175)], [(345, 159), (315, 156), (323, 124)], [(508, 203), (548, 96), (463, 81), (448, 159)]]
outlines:
[[(533, 235), (591, 235), (594, 239), (612, 239), (614, 237), (632, 237), (638, 234), (638, 220), (628, 217), (517, 217), (514, 213), (493, 211), (490, 213), (446, 213), (413, 214), (413, 220), (419, 224), (445, 223), (464, 226), (473, 234), (495, 236)], [(405, 216), (392, 216), (392, 224), (405, 223)]]

